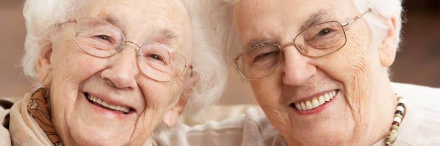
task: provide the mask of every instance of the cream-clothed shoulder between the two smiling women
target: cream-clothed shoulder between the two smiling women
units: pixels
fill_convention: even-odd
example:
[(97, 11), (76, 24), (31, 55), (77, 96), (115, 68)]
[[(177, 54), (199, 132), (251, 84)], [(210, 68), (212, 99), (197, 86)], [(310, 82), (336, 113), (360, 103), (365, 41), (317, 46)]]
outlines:
[[(180, 125), (172, 132), (155, 136), (154, 141), (159, 146), (271, 146), (277, 136), (263, 111), (249, 108), (244, 114), (222, 121), (193, 127)], [(171, 138), (178, 142), (168, 141)]]

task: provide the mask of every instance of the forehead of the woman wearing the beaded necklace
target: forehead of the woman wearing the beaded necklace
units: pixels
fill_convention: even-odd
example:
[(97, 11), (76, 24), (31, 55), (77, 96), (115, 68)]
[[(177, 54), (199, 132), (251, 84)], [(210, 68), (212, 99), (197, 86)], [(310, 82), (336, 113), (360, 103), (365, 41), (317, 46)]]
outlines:
[(355, 8), (351, 0), (240, 0), (234, 5), (233, 17), (247, 45), (254, 39), (278, 39), (274, 38), (277, 36), (293, 40), (291, 37), (305, 29), (307, 23), (317, 19), (342, 22), (356, 14), (352, 10)]

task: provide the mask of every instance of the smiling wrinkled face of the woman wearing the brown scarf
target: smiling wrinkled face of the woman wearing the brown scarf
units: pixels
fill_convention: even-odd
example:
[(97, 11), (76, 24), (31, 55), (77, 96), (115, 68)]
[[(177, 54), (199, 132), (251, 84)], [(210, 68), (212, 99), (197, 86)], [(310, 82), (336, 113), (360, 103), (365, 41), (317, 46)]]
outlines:
[[(189, 16), (177, 0), (91, 0), (72, 17), (107, 21), (139, 46), (171, 46), (191, 64)], [(41, 82), (50, 86), (52, 122), (65, 145), (141, 145), (161, 121), (176, 123), (189, 70), (176, 81), (153, 80), (136, 65), (137, 46), (125, 43), (115, 55), (95, 57), (75, 44), (74, 27), (63, 24), (38, 63)], [(100, 38), (105, 39), (93, 37)]]

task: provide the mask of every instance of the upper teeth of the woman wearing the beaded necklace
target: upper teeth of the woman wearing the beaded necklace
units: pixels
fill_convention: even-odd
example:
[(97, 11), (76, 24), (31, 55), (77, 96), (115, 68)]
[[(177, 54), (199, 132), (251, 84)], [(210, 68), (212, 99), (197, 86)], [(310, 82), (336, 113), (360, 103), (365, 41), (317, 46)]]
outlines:
[(311, 110), (323, 105), (327, 101), (330, 101), (333, 99), (334, 95), (336, 95), (336, 91), (330, 91), (324, 95), (313, 97), (310, 100), (297, 102), (295, 103), (295, 107), (298, 110)]

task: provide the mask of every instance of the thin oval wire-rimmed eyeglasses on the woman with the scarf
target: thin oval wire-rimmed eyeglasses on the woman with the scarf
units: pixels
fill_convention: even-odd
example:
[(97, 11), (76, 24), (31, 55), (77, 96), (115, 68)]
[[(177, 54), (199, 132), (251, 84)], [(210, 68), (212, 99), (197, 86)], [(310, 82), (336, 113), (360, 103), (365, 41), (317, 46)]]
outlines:
[(70, 19), (75, 24), (73, 38), (76, 45), (89, 55), (110, 57), (125, 48), (125, 43), (137, 46), (137, 66), (146, 76), (162, 82), (177, 80), (186, 68), (185, 56), (176, 49), (159, 43), (147, 43), (139, 46), (126, 41), (122, 32), (108, 22), (95, 18)]

